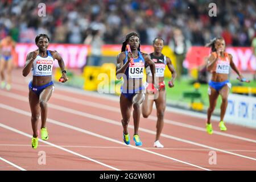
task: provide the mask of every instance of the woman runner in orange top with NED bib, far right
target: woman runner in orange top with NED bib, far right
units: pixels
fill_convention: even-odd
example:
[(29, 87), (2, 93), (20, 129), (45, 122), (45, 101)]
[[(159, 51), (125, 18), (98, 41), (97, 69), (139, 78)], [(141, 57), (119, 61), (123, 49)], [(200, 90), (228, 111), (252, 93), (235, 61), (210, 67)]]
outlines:
[(238, 71), (236, 65), (233, 62), (232, 55), (225, 52), (225, 40), (223, 38), (215, 38), (206, 45), (211, 47), (211, 53), (207, 63), (207, 71), (212, 73), (212, 78), (209, 82), (208, 94), (209, 94), (209, 108), (207, 111), (207, 123), (206, 130), (208, 134), (213, 134), (212, 123), (210, 123), (210, 117), (216, 106), (218, 95), (221, 96), (221, 113), (220, 122), (218, 126), (221, 131), (226, 131), (224, 124), (224, 115), (226, 113), (226, 107), (228, 106), (228, 94), (231, 88), (231, 84), (228, 80), (230, 67), (237, 73), (240, 81), (245, 80), (241, 73)]

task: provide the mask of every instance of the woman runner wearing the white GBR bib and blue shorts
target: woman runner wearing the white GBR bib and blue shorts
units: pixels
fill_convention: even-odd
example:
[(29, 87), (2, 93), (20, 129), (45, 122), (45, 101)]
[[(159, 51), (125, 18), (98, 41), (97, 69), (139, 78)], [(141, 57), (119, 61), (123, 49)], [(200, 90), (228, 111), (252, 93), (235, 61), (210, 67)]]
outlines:
[(30, 52), (26, 58), (26, 65), (23, 68), (23, 76), (27, 76), (32, 68), (32, 81), (28, 85), (28, 100), (31, 109), (31, 124), (33, 130), (32, 148), (38, 147), (38, 121), (41, 114), (41, 138), (48, 140), (48, 131), (46, 128), (47, 119), (47, 101), (52, 95), (54, 86), (52, 82), (53, 61), (57, 59), (62, 71), (62, 82), (68, 80), (65, 71), (65, 65), (62, 57), (57, 51), (47, 50), (49, 37), (46, 34), (39, 34), (35, 38), (36, 51)]

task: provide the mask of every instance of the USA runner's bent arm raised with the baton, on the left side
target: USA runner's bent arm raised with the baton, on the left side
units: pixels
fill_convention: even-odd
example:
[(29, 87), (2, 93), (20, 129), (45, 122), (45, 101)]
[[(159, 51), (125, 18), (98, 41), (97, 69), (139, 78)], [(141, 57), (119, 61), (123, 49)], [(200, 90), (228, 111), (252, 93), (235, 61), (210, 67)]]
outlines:
[(123, 60), (125, 60), (126, 55), (125, 52), (121, 52), (117, 55), (117, 67), (115, 68), (115, 76), (117, 76), (117, 79), (120, 79), (123, 74), (125, 74), (125, 71), (130, 63), (130, 58), (133, 57), (131, 53), (128, 53), (128, 61), (126, 61), (125, 64), (123, 64)]

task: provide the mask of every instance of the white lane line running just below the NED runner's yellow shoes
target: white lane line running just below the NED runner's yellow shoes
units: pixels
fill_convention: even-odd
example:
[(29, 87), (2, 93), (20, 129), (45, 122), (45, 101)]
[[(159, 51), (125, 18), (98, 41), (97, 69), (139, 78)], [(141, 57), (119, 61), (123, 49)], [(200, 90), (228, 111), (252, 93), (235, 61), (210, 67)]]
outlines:
[[(20, 86), (14, 86), (14, 88), (17, 89), (17, 90), (22, 90), (22, 91), (26, 92), (26, 90), (23, 89), (23, 88), (20, 88)], [(57, 98), (59, 100), (73, 102), (75, 104), (81, 104), (81, 105), (84, 105), (84, 106), (96, 107), (98, 109), (104, 109), (104, 110), (113, 111), (115, 113), (120, 113), (118, 107), (108, 106), (108, 105), (104, 105), (104, 104), (98, 104), (96, 102), (90, 102), (90, 101), (86, 101), (86, 100), (79, 100), (77, 98), (64, 96), (62, 94), (55, 93), (55, 94), (53, 94), (52, 98)], [(187, 113), (187, 111), (185, 113)], [(180, 113), (180, 114), (184, 114), (184, 110), (183, 110), (183, 113)], [(157, 117), (151, 116), (151, 115), (148, 117), (148, 119), (150, 119), (151, 121), (154, 121), (154, 122), (157, 121)], [(173, 121), (171, 119), (164, 118), (164, 123), (168, 123), (170, 125), (175, 125), (175, 126), (180, 126), (180, 127), (186, 127), (188, 129), (193, 129), (193, 130), (197, 130), (197, 131), (203, 131), (204, 133), (206, 132), (205, 128), (203, 128), (203, 127), (188, 125), (188, 124), (185, 124), (185, 123)], [(224, 136), (224, 137), (239, 139), (239, 140), (243, 140), (243, 141), (246, 141), (246, 142), (256, 143), (256, 140), (254, 140), (254, 139), (240, 137), (240, 136), (237, 136), (237, 135), (223, 133), (223, 132), (220, 132), (220, 131), (214, 131), (214, 134), (221, 135), (221, 136)]]

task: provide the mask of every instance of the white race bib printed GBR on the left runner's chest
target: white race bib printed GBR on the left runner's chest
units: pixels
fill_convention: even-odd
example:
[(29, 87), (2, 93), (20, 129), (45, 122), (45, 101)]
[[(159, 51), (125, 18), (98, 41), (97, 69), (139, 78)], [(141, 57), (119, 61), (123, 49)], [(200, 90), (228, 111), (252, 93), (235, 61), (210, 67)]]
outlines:
[(52, 75), (52, 60), (37, 60), (36, 61), (36, 75), (51, 76)]

